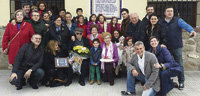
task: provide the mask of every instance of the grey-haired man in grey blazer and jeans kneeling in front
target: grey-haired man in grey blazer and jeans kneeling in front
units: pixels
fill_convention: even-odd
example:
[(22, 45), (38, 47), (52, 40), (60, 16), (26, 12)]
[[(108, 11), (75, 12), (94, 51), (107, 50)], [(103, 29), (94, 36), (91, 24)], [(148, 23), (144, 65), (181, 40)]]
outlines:
[(155, 96), (160, 90), (159, 69), (154, 67), (157, 58), (154, 54), (145, 51), (143, 42), (135, 43), (136, 54), (127, 63), (127, 91), (123, 95), (134, 95), (135, 79), (144, 82), (142, 96)]

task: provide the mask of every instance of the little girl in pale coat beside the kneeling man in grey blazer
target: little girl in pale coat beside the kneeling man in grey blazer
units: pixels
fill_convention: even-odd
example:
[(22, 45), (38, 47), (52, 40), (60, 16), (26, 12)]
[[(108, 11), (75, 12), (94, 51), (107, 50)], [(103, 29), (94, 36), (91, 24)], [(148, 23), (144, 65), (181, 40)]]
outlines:
[(130, 61), (131, 57), (135, 54), (134, 50), (134, 43), (132, 37), (126, 38), (126, 46), (124, 48), (124, 54), (123, 54), (123, 63), (126, 66), (127, 62)]

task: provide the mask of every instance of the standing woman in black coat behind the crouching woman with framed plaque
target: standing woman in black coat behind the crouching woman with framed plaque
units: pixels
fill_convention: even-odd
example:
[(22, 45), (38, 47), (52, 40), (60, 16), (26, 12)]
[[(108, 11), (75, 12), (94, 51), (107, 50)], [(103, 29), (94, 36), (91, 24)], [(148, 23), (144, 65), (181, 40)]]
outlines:
[(71, 34), (65, 25), (62, 25), (62, 19), (57, 16), (54, 20), (54, 24), (49, 29), (49, 40), (58, 41), (58, 46), (60, 50), (69, 56), (69, 41), (71, 40)]

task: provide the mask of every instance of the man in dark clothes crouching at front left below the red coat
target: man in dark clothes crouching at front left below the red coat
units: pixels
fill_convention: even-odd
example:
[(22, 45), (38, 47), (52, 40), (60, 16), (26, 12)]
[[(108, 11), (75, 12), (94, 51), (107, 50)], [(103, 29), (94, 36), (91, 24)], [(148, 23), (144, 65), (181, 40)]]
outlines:
[(31, 43), (24, 44), (15, 58), (9, 81), (17, 90), (22, 89), (26, 81), (33, 89), (38, 89), (37, 84), (44, 76), (44, 71), (40, 68), (44, 54), (40, 46), (41, 38), (41, 35), (34, 34)]

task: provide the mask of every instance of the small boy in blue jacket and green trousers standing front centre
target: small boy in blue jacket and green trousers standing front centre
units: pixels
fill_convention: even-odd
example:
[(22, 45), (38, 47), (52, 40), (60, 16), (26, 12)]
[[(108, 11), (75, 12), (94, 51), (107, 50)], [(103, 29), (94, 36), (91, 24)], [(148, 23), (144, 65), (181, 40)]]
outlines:
[(93, 47), (90, 49), (90, 84), (94, 84), (94, 76), (96, 71), (97, 76), (97, 84), (101, 84), (101, 77), (100, 77), (100, 59), (102, 49), (99, 46), (100, 41), (98, 38), (93, 39), (92, 41)]

